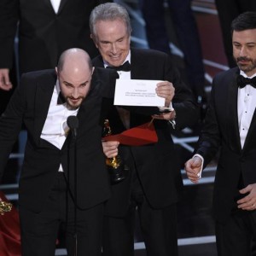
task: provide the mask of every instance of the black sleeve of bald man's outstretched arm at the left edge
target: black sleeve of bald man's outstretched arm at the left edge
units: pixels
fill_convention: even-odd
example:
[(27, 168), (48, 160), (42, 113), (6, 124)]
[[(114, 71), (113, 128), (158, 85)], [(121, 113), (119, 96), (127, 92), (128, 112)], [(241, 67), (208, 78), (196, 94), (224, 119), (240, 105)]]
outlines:
[(15, 89), (9, 104), (0, 117), (0, 179), (9, 160), (9, 154), (20, 133), (22, 120), (26, 111), (25, 79)]

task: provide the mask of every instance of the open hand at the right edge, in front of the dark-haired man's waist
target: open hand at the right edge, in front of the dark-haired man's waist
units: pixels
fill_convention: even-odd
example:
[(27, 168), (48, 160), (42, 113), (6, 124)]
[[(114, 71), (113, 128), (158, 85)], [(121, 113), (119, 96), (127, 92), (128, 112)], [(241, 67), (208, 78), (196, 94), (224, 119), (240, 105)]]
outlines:
[(256, 210), (256, 183), (247, 185), (246, 188), (239, 190), (239, 192), (242, 195), (247, 195), (237, 201), (238, 208), (246, 211)]

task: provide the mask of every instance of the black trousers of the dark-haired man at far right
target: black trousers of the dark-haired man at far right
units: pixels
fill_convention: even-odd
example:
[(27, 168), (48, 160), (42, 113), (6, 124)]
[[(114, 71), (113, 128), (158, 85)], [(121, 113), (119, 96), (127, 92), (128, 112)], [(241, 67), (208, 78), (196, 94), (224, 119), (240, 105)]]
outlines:
[(251, 256), (256, 238), (256, 211), (237, 210), (225, 224), (216, 223), (218, 256)]

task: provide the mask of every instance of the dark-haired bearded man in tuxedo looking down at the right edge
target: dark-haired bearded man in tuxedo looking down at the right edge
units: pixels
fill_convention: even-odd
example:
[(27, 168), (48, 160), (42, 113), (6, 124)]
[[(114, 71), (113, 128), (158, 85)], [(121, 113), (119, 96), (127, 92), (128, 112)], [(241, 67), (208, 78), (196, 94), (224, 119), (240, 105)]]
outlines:
[(251, 255), (256, 236), (256, 13), (239, 15), (231, 25), (237, 66), (212, 81), (212, 96), (195, 156), (187, 161), (189, 179), (220, 149), (213, 191), (218, 255)]

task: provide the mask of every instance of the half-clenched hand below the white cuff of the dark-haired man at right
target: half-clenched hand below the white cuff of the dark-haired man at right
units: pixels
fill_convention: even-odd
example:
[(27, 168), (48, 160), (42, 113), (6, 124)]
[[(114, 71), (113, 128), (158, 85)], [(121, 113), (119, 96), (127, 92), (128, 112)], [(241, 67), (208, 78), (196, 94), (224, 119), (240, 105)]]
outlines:
[(202, 160), (198, 156), (189, 159), (185, 163), (185, 171), (187, 172), (187, 176), (189, 177), (192, 183), (198, 183), (200, 179), (199, 173), (201, 172), (201, 168)]

